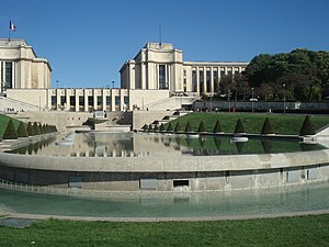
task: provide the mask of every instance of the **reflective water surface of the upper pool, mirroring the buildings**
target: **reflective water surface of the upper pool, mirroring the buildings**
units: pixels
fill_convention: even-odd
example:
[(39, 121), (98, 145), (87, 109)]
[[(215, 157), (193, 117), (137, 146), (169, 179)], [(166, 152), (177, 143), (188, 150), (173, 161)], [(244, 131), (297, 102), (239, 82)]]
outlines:
[[(70, 157), (168, 157), (274, 154), (286, 151), (319, 150), (318, 144), (297, 141), (251, 138), (231, 142), (230, 137), (161, 135), (140, 133), (81, 133), (73, 135), (70, 145), (67, 136), (58, 135), (39, 143), (29, 144), (12, 153)], [(60, 145), (63, 144), (63, 145)]]

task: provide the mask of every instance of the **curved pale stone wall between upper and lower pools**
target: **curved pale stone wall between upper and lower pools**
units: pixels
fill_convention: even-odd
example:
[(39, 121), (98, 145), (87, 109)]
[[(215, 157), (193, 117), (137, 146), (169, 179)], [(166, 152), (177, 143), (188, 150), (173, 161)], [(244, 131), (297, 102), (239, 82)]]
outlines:
[(0, 179), (106, 191), (231, 191), (329, 180), (329, 149), (197, 157), (54, 157), (0, 153)]

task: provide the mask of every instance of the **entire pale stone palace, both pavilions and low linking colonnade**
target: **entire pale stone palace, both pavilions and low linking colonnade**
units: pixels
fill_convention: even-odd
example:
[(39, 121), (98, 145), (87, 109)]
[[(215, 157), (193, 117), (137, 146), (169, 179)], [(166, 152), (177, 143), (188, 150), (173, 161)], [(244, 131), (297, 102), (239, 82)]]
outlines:
[(242, 72), (247, 65), (184, 61), (183, 52), (172, 44), (147, 43), (122, 66), (121, 88), (55, 89), (47, 59), (23, 40), (0, 40), (1, 102), (27, 111), (172, 110), (214, 94), (225, 75)]

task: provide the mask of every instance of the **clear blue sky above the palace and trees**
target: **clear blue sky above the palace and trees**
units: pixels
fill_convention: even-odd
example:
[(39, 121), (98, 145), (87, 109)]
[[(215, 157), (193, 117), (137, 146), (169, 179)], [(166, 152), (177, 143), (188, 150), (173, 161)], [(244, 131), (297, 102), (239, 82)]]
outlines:
[(184, 60), (329, 50), (328, 0), (1, 0), (0, 37), (9, 16), (12, 37), (49, 60), (54, 88), (118, 87), (124, 61), (159, 41), (159, 23)]

